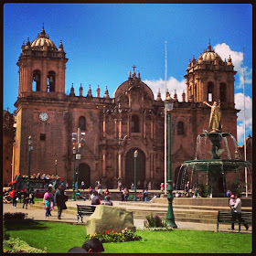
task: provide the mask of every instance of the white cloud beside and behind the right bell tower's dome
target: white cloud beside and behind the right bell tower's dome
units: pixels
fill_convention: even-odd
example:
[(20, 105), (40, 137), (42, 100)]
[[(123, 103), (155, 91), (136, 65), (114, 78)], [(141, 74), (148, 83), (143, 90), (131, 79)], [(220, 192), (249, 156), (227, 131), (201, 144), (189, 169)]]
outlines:
[[(234, 65), (234, 69), (238, 72), (239, 76), (239, 83), (237, 84), (237, 88), (243, 87), (243, 53), (238, 51), (233, 51), (229, 48), (228, 45), (225, 43), (218, 44), (214, 47), (216, 53), (219, 54), (221, 59), (224, 61), (225, 59), (228, 61), (229, 56), (232, 59), (232, 64)], [(244, 67), (244, 77), (245, 77), (245, 84), (251, 84), (252, 69), (248, 67)]]

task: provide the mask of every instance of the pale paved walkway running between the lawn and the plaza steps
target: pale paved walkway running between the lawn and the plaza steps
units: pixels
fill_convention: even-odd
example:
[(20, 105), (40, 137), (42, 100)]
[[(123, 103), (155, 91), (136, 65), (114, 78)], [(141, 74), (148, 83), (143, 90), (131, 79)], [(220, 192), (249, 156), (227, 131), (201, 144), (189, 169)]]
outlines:
[[(67, 207), (76, 207), (78, 201), (71, 201), (67, 202)], [(87, 202), (79, 201), (80, 204), (86, 204)], [(22, 208), (22, 203), (17, 203), (16, 208), (13, 208), (12, 204), (3, 204), (3, 213), (5, 212), (24, 212), (27, 213), (27, 218), (35, 219), (35, 220), (46, 220), (46, 221), (58, 221), (58, 222), (68, 222), (68, 223), (76, 223), (77, 217), (73, 214), (68, 214), (63, 210), (61, 219), (57, 218), (57, 211), (53, 210), (51, 213), (51, 217), (49, 219), (45, 219), (45, 209), (39, 208), (30, 208), (30, 206), (26, 208)], [(113, 201), (113, 206), (119, 206), (118, 201)], [(129, 209), (130, 206), (127, 206)], [(84, 221), (88, 217), (84, 217)], [(144, 219), (133, 219), (133, 224), (137, 228), (144, 227)], [(79, 222), (79, 225), (84, 225), (84, 223)], [(178, 229), (197, 229), (197, 230), (208, 230), (208, 231), (217, 231), (217, 223), (216, 224), (207, 224), (207, 223), (195, 223), (195, 222), (181, 222), (176, 221), (176, 226)], [(227, 224), (219, 224), (219, 231), (221, 232), (238, 232), (239, 230), (238, 225), (236, 224), (235, 230), (229, 230), (229, 225)], [(242, 226), (241, 227), (242, 233), (251, 233), (251, 227), (248, 231)]]

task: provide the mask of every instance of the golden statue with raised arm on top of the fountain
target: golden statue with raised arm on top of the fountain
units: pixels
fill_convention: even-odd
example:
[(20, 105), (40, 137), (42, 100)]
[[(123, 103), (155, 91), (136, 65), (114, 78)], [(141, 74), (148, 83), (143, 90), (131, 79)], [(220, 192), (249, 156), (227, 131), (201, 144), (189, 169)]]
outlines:
[(221, 111), (220, 111), (220, 101), (213, 102), (213, 105), (208, 104), (208, 102), (204, 101), (204, 104), (208, 105), (211, 108), (210, 118), (209, 118), (209, 128), (211, 129), (211, 133), (221, 132), (222, 124), (221, 124)]

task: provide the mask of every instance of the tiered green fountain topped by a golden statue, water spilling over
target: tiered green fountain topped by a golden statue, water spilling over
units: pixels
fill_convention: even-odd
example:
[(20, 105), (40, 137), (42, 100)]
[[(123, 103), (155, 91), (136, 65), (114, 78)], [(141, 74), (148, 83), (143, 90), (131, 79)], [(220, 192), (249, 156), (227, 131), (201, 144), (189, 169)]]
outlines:
[[(239, 172), (245, 167), (251, 169), (251, 163), (240, 159), (238, 144), (234, 136), (231, 133), (221, 132), (221, 113), (218, 103), (214, 102), (212, 106), (207, 102), (205, 103), (212, 108), (209, 121), (209, 128), (212, 131), (204, 130), (203, 133), (197, 136), (195, 159), (185, 161), (181, 165), (176, 190), (185, 189), (185, 183), (189, 180), (188, 172), (191, 170), (190, 184), (192, 184), (193, 176), (195, 175), (196, 195), (198, 195), (198, 182), (201, 182), (204, 176), (206, 176), (205, 189), (207, 191), (204, 192), (207, 193), (207, 196), (226, 197), (225, 192), (227, 189), (230, 189), (233, 193), (240, 192)], [(231, 146), (231, 149), (235, 149), (233, 152), (229, 147), (229, 138), (233, 142)], [(227, 176), (229, 173), (236, 173), (236, 185), (233, 187), (227, 186)]]

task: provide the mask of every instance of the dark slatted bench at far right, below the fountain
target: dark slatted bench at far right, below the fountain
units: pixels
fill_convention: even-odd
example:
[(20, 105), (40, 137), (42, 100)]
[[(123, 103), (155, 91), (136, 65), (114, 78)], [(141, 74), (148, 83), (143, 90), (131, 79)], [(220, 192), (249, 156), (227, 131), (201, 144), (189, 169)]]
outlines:
[(238, 223), (239, 224), (239, 231), (240, 231), (240, 224), (251, 224), (251, 212), (241, 212), (241, 219), (236, 219), (235, 221), (232, 220), (232, 213), (231, 211), (222, 211), (219, 210), (218, 213), (218, 220), (217, 220), (217, 231), (219, 231), (219, 223)]

